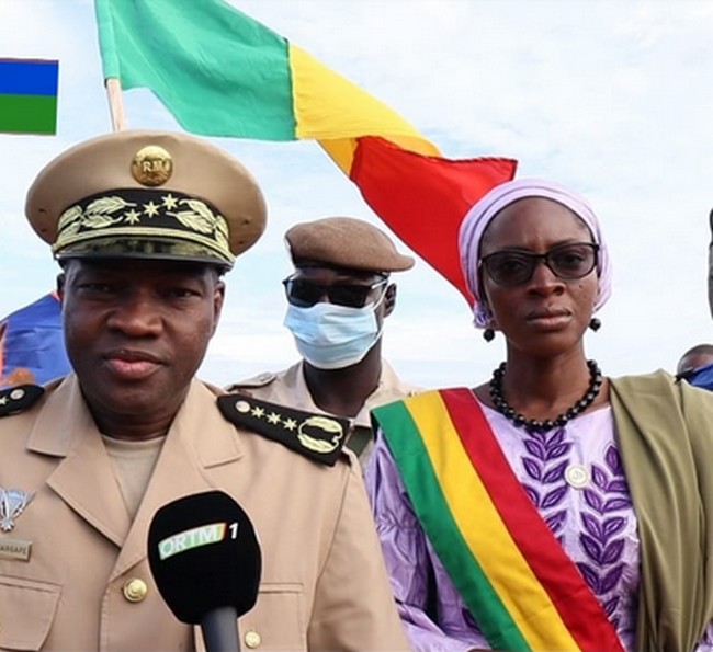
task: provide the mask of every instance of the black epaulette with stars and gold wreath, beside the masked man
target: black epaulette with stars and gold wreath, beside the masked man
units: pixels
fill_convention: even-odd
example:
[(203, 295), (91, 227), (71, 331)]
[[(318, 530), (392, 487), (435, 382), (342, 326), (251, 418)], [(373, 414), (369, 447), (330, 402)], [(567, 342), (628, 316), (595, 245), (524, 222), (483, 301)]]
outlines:
[(348, 419), (303, 412), (240, 393), (218, 397), (218, 408), (230, 423), (330, 467), (339, 459), (351, 427)]

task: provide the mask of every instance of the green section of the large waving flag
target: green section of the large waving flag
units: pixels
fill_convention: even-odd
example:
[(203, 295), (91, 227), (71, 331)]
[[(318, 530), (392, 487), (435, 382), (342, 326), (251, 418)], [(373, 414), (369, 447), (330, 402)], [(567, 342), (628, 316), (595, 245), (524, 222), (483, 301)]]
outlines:
[[(295, 140), (287, 42), (222, 0), (97, 0), (104, 76), (204, 136)], [(260, 89), (256, 93), (254, 89)]]

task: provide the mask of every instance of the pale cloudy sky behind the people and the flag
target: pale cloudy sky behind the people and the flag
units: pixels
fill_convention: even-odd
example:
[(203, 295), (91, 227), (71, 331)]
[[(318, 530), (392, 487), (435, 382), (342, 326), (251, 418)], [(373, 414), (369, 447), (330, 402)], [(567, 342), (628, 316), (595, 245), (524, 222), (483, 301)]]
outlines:
[[(613, 259), (602, 328), (586, 335), (606, 375), (674, 370), (687, 348), (713, 342), (713, 2), (230, 3), (398, 111), (443, 156), (516, 158), (518, 176), (585, 195)], [(91, 0), (0, 0), (0, 57), (59, 60), (57, 135), (0, 135), (3, 316), (52, 289), (58, 272), (24, 218), (27, 187), (60, 151), (110, 131), (111, 122)], [(180, 128), (148, 91), (123, 99), (129, 128)], [(280, 283), (291, 272), (290, 226), (346, 215), (387, 228), (315, 142), (212, 140), (252, 171), (269, 209), (264, 236), (226, 277), (222, 322), (200, 370), (226, 385), (298, 358)], [(385, 357), (425, 387), (485, 381), (505, 356), (502, 336), (486, 343), (461, 295), (416, 259), (393, 276), (398, 301), (385, 322)]]

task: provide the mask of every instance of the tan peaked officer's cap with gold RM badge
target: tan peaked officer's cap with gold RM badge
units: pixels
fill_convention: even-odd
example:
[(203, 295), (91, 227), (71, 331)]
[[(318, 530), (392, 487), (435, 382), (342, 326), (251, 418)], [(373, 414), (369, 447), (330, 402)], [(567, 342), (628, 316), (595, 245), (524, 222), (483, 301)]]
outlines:
[(148, 258), (216, 264), (260, 238), (265, 203), (252, 175), (205, 140), (117, 131), (50, 161), (25, 214), (58, 260)]

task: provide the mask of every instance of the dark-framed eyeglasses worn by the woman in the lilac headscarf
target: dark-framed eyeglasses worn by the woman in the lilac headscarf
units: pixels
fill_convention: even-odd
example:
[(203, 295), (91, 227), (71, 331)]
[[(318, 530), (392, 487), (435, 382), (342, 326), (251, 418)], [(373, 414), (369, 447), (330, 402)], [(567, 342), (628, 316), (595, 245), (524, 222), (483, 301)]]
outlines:
[(587, 276), (597, 265), (599, 244), (574, 242), (551, 249), (547, 253), (524, 251), (496, 251), (480, 259), (490, 278), (503, 287), (528, 283), (535, 265), (542, 261), (547, 268), (563, 281), (575, 281)]

